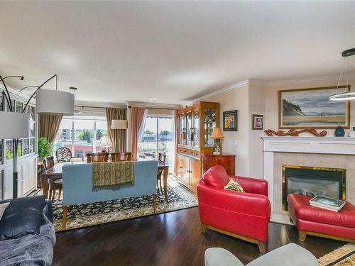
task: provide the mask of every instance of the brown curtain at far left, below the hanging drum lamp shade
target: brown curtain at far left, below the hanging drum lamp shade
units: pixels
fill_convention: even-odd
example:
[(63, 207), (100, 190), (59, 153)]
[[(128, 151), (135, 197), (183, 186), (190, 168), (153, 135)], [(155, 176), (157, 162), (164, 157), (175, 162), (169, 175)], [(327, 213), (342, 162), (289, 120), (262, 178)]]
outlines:
[(47, 138), (49, 143), (53, 143), (57, 137), (57, 133), (62, 121), (61, 114), (38, 114), (38, 135), (39, 138)]

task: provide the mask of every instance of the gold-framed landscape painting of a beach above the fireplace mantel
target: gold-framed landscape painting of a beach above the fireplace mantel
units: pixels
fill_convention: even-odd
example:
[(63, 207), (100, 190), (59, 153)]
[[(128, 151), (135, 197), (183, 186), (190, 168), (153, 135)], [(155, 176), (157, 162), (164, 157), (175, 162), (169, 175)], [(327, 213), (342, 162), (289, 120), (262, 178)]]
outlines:
[(350, 86), (279, 91), (279, 128), (349, 128), (350, 102), (329, 100), (349, 91)]

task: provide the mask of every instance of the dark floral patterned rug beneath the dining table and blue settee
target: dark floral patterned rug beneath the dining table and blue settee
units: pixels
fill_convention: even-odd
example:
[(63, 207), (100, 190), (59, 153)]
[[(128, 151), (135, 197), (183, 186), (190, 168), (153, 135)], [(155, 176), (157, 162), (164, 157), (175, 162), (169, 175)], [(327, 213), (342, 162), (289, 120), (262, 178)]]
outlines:
[[(198, 206), (197, 197), (180, 186), (168, 187), (168, 204), (163, 194), (158, 193), (157, 212), (153, 211), (153, 196), (133, 197), (101, 201), (93, 204), (68, 206), (67, 226), (64, 230), (94, 226), (101, 223), (121, 221), (129, 218), (161, 214)], [(62, 201), (53, 202), (55, 231), (62, 229)]]

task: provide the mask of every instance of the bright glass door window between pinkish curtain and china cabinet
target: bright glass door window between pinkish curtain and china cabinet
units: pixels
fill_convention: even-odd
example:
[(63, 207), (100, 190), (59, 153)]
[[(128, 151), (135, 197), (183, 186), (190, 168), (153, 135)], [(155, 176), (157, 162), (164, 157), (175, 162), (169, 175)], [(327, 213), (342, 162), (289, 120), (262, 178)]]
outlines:
[(170, 172), (173, 172), (175, 157), (173, 125), (172, 116), (148, 115), (143, 136), (138, 144), (138, 155), (141, 158), (157, 158), (158, 153), (164, 153)]

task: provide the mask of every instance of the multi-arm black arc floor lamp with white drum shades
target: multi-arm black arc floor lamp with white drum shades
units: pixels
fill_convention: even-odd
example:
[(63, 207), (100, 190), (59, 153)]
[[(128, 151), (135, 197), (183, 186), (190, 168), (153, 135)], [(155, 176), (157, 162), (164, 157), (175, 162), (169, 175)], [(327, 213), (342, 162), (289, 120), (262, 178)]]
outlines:
[[(20, 77), (23, 80), (23, 76), (9, 76)], [(18, 172), (17, 172), (17, 148), (18, 138), (28, 138), (29, 135), (29, 114), (25, 113), (26, 107), (30, 103), (33, 96), (36, 95), (36, 111), (37, 113), (60, 113), (62, 115), (72, 116), (74, 114), (74, 94), (70, 92), (58, 91), (58, 75), (47, 79), (40, 86), (28, 86), (37, 87), (35, 92), (28, 99), (26, 105), (23, 108), (22, 113), (16, 113), (11, 105), (11, 96), (9, 89), (6, 87), (4, 79), (9, 77), (1, 77), (0, 80), (4, 84), (5, 93), (4, 98), (6, 104), (9, 107), (9, 111), (0, 111), (0, 139), (12, 139), (13, 140), (13, 198), (18, 195)], [(43, 85), (55, 78), (55, 90), (53, 89), (41, 89)], [(26, 89), (25, 87), (23, 89)], [(22, 89), (21, 89), (22, 90)]]

